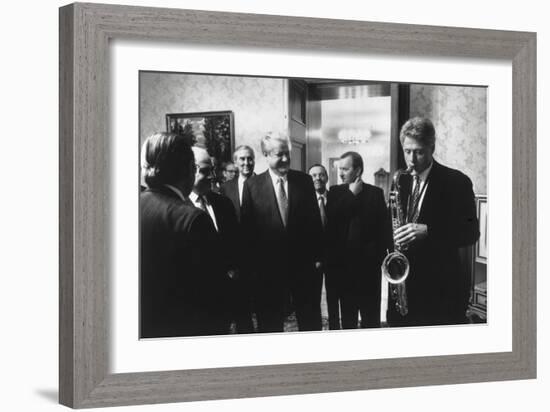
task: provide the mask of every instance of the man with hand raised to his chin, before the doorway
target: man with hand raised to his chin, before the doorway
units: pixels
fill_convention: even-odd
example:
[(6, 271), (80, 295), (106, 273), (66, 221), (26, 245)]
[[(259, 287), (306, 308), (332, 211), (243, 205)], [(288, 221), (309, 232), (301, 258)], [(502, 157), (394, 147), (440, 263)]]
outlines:
[(383, 191), (362, 181), (363, 159), (346, 152), (338, 161), (343, 182), (328, 196), (329, 276), (340, 294), (342, 327), (380, 326), (381, 270), (391, 238)]

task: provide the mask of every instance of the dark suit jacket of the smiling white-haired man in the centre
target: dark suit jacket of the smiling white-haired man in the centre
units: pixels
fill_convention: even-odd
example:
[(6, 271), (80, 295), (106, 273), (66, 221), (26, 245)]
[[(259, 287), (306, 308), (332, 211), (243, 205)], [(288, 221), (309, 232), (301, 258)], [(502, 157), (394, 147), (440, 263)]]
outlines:
[(283, 280), (289, 270), (313, 270), (321, 260), (322, 229), (311, 177), (290, 170), (288, 221), (283, 225), (275, 188), (266, 171), (246, 180), (241, 223), (250, 247), (251, 269), (264, 280)]

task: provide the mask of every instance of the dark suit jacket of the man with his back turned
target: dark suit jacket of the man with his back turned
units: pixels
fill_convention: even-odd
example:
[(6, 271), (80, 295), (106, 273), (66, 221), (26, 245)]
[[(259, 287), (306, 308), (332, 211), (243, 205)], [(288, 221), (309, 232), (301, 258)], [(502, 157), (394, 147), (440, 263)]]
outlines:
[(210, 217), (168, 188), (140, 194), (140, 336), (209, 334), (222, 271)]

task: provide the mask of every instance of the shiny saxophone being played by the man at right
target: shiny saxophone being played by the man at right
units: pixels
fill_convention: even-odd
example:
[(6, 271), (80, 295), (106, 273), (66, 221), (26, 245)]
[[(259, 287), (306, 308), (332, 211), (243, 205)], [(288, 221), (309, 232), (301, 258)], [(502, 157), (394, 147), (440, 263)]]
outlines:
[[(399, 194), (399, 180), (402, 175), (410, 174), (411, 171), (412, 167), (409, 167), (406, 170), (397, 170), (393, 175), (388, 207), (390, 209), (392, 229), (394, 232), (397, 228), (406, 223), (403, 207), (401, 205), (401, 195)], [(390, 297), (391, 300), (395, 302), (397, 311), (401, 316), (405, 316), (409, 312), (405, 279), (409, 276), (410, 264), (409, 259), (407, 259), (402, 252), (407, 250), (407, 246), (399, 246), (394, 240), (393, 249), (393, 252), (388, 252), (382, 262), (382, 274), (390, 283)]]

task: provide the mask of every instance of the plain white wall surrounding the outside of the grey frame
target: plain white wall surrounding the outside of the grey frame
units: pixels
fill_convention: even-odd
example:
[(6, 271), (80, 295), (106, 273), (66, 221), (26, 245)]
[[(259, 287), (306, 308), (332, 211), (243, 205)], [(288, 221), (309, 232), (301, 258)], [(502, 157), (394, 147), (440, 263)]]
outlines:
[[(103, 0), (108, 3), (118, 1)], [(246, 0), (136, 1), (147, 6), (186, 7), (253, 13), (304, 15), (416, 24), (479, 27), (538, 32), (539, 121), (538, 210), (550, 210), (550, 189), (542, 164), (550, 152), (550, 28), (544, 2), (524, 0), (438, 1), (399, 0), (365, 2), (340, 0), (315, 4), (298, 0), (250, 2)], [(2, 228), (2, 410), (61, 411), (57, 391), (57, 7), (64, 1), (5, 2), (1, 25), (3, 191)], [(312, 7), (314, 5), (314, 7)], [(498, 12), (497, 12), (498, 11)], [(546, 96), (546, 98), (542, 98)], [(29, 127), (32, 126), (32, 128)], [(534, 200), (533, 200), (534, 201)], [(540, 259), (550, 247), (548, 215), (538, 218)], [(440, 387), (389, 389), (336, 394), (286, 396), (192, 404), (117, 408), (116, 411), (509, 411), (548, 405), (550, 377), (549, 303), (546, 265), (539, 273), (539, 356), (537, 380)], [(391, 405), (391, 406), (390, 406)], [(547, 407), (547, 406), (546, 406)], [(115, 409), (112, 409), (115, 411)]]

